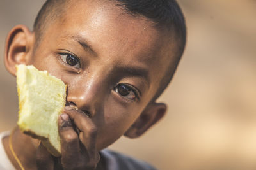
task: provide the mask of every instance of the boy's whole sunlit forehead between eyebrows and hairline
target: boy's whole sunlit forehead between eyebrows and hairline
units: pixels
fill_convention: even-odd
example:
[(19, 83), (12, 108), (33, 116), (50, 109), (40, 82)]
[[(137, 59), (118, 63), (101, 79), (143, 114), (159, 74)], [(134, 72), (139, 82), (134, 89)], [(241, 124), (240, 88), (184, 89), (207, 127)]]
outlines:
[[(161, 76), (170, 64), (170, 34), (158, 31), (143, 17), (127, 14), (111, 1), (70, 1), (59, 22), (52, 26), (58, 43), (81, 40), (93, 52), (116, 64), (147, 67)], [(160, 67), (161, 66), (161, 67)], [(155, 73), (153, 73), (155, 72)]]

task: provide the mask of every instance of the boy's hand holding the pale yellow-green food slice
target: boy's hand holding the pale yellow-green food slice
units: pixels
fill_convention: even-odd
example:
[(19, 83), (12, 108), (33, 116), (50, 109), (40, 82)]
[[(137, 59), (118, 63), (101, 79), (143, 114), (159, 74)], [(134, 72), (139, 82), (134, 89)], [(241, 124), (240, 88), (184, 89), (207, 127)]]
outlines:
[[(72, 127), (72, 122), (78, 132)], [(83, 111), (66, 107), (59, 118), (59, 134), (61, 138), (61, 161), (54, 159), (40, 144), (36, 153), (38, 169), (95, 169), (99, 162), (96, 150), (97, 127)], [(60, 162), (60, 163), (59, 163)]]

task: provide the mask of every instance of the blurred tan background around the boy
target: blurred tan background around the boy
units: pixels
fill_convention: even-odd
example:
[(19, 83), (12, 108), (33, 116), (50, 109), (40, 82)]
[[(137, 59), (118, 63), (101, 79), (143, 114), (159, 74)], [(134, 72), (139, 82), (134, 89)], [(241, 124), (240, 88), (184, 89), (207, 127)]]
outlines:
[[(110, 148), (158, 169), (256, 169), (256, 1), (178, 0), (188, 43), (159, 98), (168, 114), (139, 139)], [(0, 132), (17, 121), (15, 78), (4, 68), (4, 40), (30, 28), (43, 0), (0, 1)]]

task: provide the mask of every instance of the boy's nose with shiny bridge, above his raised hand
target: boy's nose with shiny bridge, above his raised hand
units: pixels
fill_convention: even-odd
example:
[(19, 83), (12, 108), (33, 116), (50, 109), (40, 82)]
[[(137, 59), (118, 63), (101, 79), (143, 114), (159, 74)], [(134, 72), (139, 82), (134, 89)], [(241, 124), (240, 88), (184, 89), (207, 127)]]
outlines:
[(67, 102), (93, 117), (103, 106), (104, 94), (104, 82), (99, 76), (79, 78), (68, 85)]

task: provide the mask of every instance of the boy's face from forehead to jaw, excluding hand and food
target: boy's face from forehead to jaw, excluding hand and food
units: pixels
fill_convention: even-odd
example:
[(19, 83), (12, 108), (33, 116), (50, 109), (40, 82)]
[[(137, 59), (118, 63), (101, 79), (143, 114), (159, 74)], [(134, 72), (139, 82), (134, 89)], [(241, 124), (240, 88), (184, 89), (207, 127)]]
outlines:
[[(166, 34), (115, 4), (76, 1), (47, 27), (35, 52), (27, 53), (26, 64), (47, 70), (68, 85), (67, 102), (90, 114), (99, 129), (101, 150), (131, 126), (140, 129), (150, 121), (155, 109), (150, 106), (156, 103), (148, 103), (173, 48)], [(160, 109), (165, 112), (165, 106)], [(140, 117), (144, 112), (148, 115)]]

